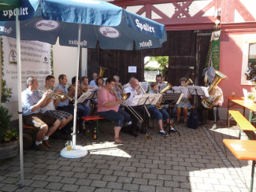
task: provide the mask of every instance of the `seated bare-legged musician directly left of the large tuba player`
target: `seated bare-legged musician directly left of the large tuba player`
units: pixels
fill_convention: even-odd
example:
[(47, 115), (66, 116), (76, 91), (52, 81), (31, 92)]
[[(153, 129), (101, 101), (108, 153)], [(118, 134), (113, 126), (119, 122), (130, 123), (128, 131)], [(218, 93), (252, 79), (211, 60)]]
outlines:
[[(183, 87), (186, 82), (187, 82), (187, 78), (186, 77), (181, 77), (180, 78), (180, 86), (181, 87)], [(187, 109), (191, 109), (191, 107), (192, 107), (191, 103), (188, 100), (189, 98), (191, 98), (191, 95), (188, 94), (188, 90), (187, 90), (187, 95), (184, 94), (183, 98), (181, 98), (181, 100), (180, 100), (180, 103), (174, 105), (174, 111), (176, 111), (176, 113), (177, 113), (176, 124), (178, 124), (180, 122), (181, 108), (183, 108), (184, 123), (185, 124), (187, 123)]]

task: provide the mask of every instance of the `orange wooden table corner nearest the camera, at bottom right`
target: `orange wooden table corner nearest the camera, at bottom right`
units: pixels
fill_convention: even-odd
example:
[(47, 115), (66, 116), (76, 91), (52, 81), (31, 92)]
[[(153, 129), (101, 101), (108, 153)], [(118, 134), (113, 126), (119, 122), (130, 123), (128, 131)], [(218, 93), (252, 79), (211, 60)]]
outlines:
[(237, 159), (252, 161), (250, 175), (250, 191), (252, 191), (254, 185), (254, 168), (256, 161), (256, 141), (223, 139), (223, 142)]

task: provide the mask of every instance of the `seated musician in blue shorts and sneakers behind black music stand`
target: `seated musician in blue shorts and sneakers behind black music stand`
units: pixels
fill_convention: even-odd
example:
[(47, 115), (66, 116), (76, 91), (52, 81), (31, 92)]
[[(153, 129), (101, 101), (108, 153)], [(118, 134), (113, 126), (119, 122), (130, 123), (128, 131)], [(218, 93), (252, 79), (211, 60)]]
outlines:
[[(151, 83), (150, 84), (151, 90), (148, 92), (148, 94), (158, 94), (158, 83)], [(157, 102), (158, 105), (161, 104), (161, 102)], [(173, 126), (170, 124), (169, 114), (166, 112), (164, 108), (157, 109), (155, 105), (149, 105), (148, 110), (150, 113), (154, 115), (154, 117), (158, 120), (158, 126), (160, 128), (159, 134), (160, 135), (168, 135), (165, 133), (163, 126), (162, 126), (162, 120), (166, 120), (167, 126), (169, 126), (169, 132), (176, 133), (177, 131), (173, 128)]]

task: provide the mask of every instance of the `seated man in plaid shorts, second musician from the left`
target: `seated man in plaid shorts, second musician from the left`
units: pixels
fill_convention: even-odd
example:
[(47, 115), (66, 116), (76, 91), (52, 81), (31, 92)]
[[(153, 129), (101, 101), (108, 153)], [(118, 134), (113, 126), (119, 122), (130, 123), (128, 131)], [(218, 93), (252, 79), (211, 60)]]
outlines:
[[(51, 87), (54, 86), (55, 78), (54, 76), (46, 76), (46, 90), (50, 90)], [(56, 94), (61, 94), (62, 90), (56, 90)], [(67, 113), (65, 111), (58, 111), (55, 109), (55, 105), (60, 102), (60, 97), (57, 97), (56, 99), (53, 98), (53, 95), (50, 95), (45, 103), (45, 105), (41, 106), (41, 112), (46, 113), (50, 116), (54, 116), (58, 118), (58, 120), (61, 121), (60, 126), (58, 127), (58, 130), (61, 130), (62, 127), (64, 127), (66, 124), (69, 124), (69, 122), (72, 120), (73, 116), (70, 113)]]

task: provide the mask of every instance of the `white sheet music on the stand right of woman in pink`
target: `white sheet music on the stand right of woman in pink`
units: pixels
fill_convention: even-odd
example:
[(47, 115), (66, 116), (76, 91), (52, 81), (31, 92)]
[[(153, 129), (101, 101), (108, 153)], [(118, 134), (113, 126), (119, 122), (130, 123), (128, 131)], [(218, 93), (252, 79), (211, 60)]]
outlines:
[(140, 94), (135, 95), (132, 103), (135, 105), (155, 105), (161, 98), (161, 94)]

